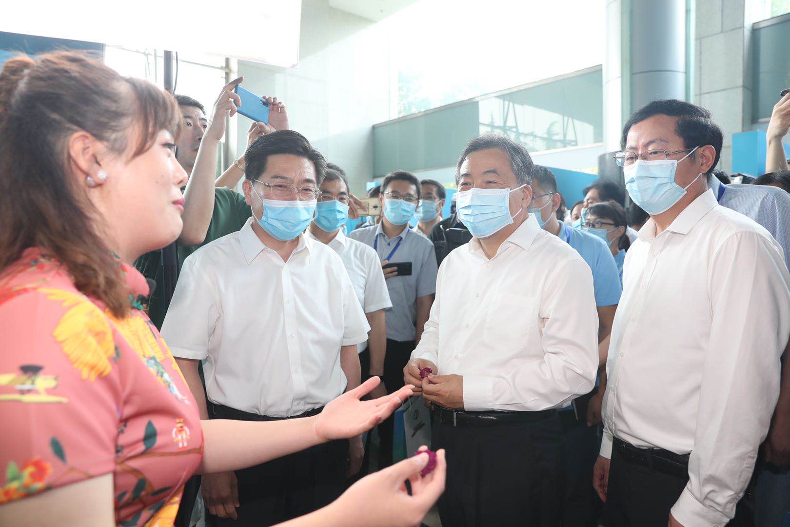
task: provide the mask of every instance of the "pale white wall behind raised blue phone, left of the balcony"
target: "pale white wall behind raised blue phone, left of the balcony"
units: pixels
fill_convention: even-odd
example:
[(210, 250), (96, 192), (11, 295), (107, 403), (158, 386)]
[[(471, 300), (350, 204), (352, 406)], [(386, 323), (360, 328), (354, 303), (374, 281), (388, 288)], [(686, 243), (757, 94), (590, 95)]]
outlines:
[[(295, 69), (239, 61), (239, 75), (253, 92), (283, 100), (292, 130), (340, 165), (362, 194), (373, 178), (371, 125), (389, 119), (386, 24), (333, 9), (328, 0), (304, 0), (299, 45)], [(250, 120), (236, 122), (243, 152)]]

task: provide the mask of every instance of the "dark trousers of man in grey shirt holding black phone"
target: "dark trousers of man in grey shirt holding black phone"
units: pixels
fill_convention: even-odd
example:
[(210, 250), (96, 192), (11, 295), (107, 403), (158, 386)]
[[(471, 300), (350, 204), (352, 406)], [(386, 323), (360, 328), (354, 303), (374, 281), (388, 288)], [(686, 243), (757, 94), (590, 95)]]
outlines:
[[(384, 375), (382, 380), (387, 387), (387, 393), (397, 392), (404, 386), (403, 368), (414, 351), (415, 341), (393, 341), (387, 339), (386, 356), (384, 357)], [(371, 371), (370, 348), (359, 354), (359, 364), (362, 367), (362, 378), (368, 378)], [(378, 424), (378, 469), (383, 469), (393, 464), (393, 429), (395, 427), (394, 414)], [(367, 457), (367, 449), (366, 449)], [(365, 461), (365, 466), (370, 466), (370, 460)]]

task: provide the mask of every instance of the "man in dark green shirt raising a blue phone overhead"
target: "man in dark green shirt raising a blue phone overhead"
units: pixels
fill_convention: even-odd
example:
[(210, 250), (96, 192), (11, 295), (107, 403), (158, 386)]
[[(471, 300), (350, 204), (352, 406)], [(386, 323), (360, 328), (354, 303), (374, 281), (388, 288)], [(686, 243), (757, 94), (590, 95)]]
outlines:
[[(243, 79), (239, 77), (222, 88), (213, 107), (211, 122), (206, 119), (205, 107), (197, 100), (189, 96), (175, 96), (182, 115), (175, 159), (190, 175), (184, 189), (184, 226), (177, 243), (177, 272), (180, 272), (187, 256), (215, 239), (238, 231), (252, 215), (243, 194), (233, 190), (244, 175), (244, 156), (214, 179), (217, 149), (225, 134), (227, 118), (236, 113), (236, 104), (241, 102), (233, 89)], [(253, 122), (247, 132), (247, 145), (263, 134), (288, 130), (284, 104), (276, 98), (269, 97), (268, 100), (269, 124)], [(134, 265), (143, 276), (156, 281), (156, 288), (149, 298), (148, 314), (154, 325), (161, 329), (166, 312), (162, 288), (162, 251), (143, 254)]]

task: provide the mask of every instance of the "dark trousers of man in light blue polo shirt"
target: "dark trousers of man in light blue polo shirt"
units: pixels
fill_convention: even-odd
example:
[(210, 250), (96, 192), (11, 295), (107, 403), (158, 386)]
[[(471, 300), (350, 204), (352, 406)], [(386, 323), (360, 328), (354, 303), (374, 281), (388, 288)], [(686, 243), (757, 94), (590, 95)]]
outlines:
[[(592, 466), (600, 451), (599, 427), (588, 427), (587, 416), (578, 420), (574, 410), (559, 412), (565, 454), (563, 527), (596, 527), (601, 501), (592, 488)], [(666, 527), (666, 526), (664, 526)]]

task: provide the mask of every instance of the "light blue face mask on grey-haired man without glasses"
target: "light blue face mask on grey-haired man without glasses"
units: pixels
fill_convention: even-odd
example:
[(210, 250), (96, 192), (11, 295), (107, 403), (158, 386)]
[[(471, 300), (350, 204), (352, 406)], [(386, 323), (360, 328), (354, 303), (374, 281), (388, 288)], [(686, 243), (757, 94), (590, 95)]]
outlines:
[[(510, 216), (510, 193), (525, 187), (514, 189), (477, 189), (458, 192), (458, 219), (461, 220), (472, 236), (487, 238), (513, 223), (515, 216)], [(521, 213), (521, 209), (516, 216)]]

